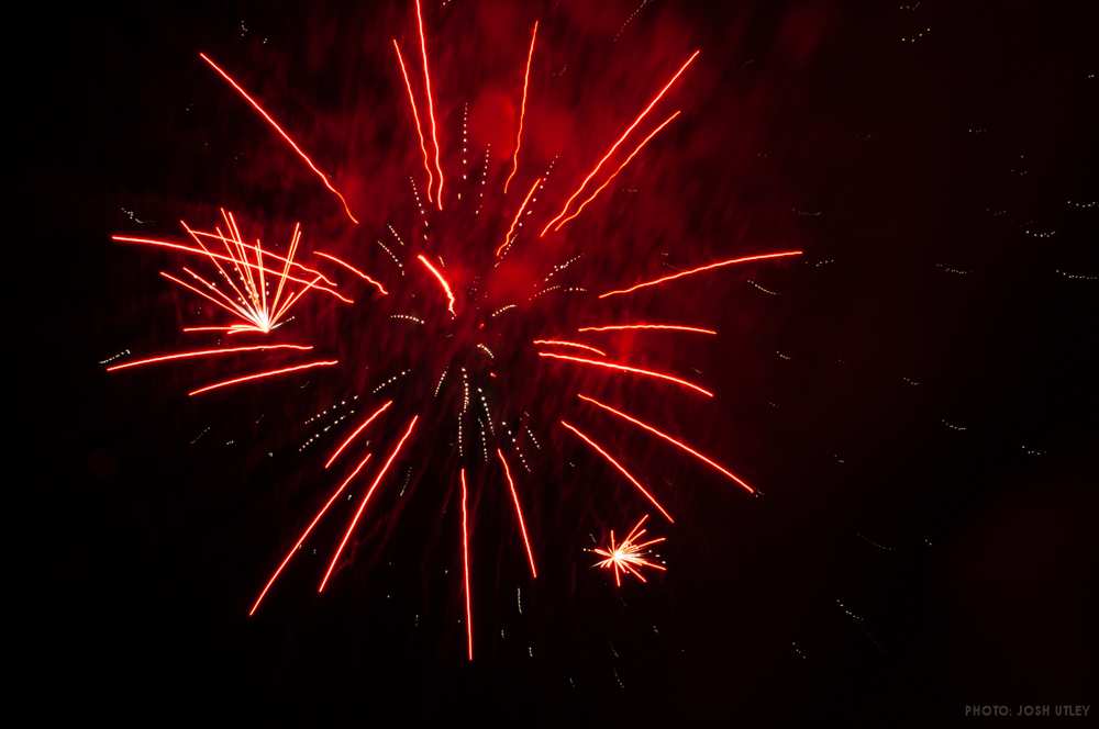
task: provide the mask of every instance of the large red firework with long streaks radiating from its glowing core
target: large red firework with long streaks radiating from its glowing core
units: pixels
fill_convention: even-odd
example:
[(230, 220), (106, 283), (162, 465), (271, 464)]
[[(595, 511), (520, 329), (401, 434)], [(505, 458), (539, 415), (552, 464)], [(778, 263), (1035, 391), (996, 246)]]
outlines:
[[(323, 464), (324, 469), (332, 467), (345, 453), (355, 453), (351, 457), (355, 466), (344, 478), (338, 479), (338, 485), (328, 495), (308, 526), (297, 536), (251, 604), (248, 614), (255, 614), (260, 607), (295, 554), (330, 513), (336, 500), (353, 484), (364, 485), (366, 476), (364, 475), (364, 483), (360, 484), (358, 481), (360, 473), (368, 467), (371, 469), (376, 467), (377, 470), (369, 479), (369, 485), (362, 491), (357, 507), (343, 529), (342, 538), (331, 553), (328, 567), (321, 576), (319, 591), (323, 592), (341, 567), (341, 559), (348, 543), (355, 538), (356, 529), (370, 505), (371, 496), (382, 486), (386, 475), (395, 462), (409, 458), (409, 451), (415, 447), (418, 437), (426, 440), (425, 435), (430, 435), (430, 439), (441, 441), (445, 436), (439, 435), (439, 429), (454, 427), (457, 434), (458, 451), (455, 482), (460, 486), (460, 550), (467, 655), (469, 660), (473, 660), (474, 627), (470, 594), (473, 554), (469, 535), (475, 515), (468, 497), (470, 485), (467, 484), (467, 466), (468, 461), (474, 459), (475, 453), (467, 448), (468, 438), (466, 436), (467, 429), (473, 425), (477, 425), (479, 429), (481, 460), (486, 463), (490, 462), (492, 460), (489, 456), (490, 450), (496, 452), (496, 461), (499, 463), (499, 481), (504, 486), (499, 490), (498, 494), (508, 502), (508, 511), (514, 513), (520, 536), (517, 549), (529, 564), (531, 579), (536, 579), (539, 574), (536, 539), (532, 538), (532, 532), (529, 529), (530, 523), (523, 509), (523, 504), (531, 501), (531, 495), (524, 492), (521, 482), (517, 483), (509, 464), (509, 455), (513, 455), (530, 472), (523, 451), (524, 441), (521, 441), (507, 427), (507, 424), (511, 422), (511, 416), (517, 411), (522, 411), (522, 404), (509, 402), (507, 390), (503, 390), (506, 394), (502, 397), (495, 399), (491, 393), (496, 389), (490, 383), (493, 380), (518, 381), (533, 377), (542, 386), (544, 382), (550, 381), (555, 372), (571, 369), (577, 372), (589, 372), (592, 375), (629, 379), (671, 392), (679, 391), (688, 397), (697, 399), (701, 395), (704, 401), (714, 397), (714, 392), (702, 384), (680, 377), (678, 373), (665, 371), (664, 368), (657, 368), (646, 362), (622, 359), (621, 355), (609, 355), (608, 350), (614, 349), (611, 346), (614, 344), (613, 341), (608, 345), (600, 340), (597, 343), (599, 346), (596, 346), (591, 341), (574, 341), (565, 337), (573, 336), (567, 334), (568, 332), (577, 335), (609, 335), (610, 337), (620, 332), (646, 336), (714, 336), (718, 334), (715, 329), (699, 323), (660, 323), (637, 321), (634, 317), (620, 322), (598, 321), (582, 325), (577, 322), (563, 322), (567, 317), (560, 315), (559, 312), (554, 317), (546, 317), (543, 314), (535, 315), (543, 296), (571, 295), (579, 301), (588, 302), (610, 296), (629, 296), (642, 289), (670, 285), (682, 278), (701, 276), (732, 266), (782, 260), (798, 256), (801, 251), (765, 251), (712, 262), (699, 262), (698, 266), (689, 270), (643, 280), (621, 289), (613, 287), (622, 284), (607, 281), (600, 287), (607, 290), (596, 295), (589, 294), (588, 290), (581, 287), (551, 282), (577, 260), (577, 258), (571, 258), (555, 266), (548, 274), (513, 301), (497, 306), (496, 304), (501, 303), (501, 301), (493, 302), (492, 296), (489, 295), (491, 287), (486, 281), (493, 272), (501, 270), (501, 266), (506, 265), (506, 259), (514, 255), (517, 247), (554, 245), (553, 242), (540, 242), (540, 239), (559, 233), (568, 223), (588, 210), (591, 203), (630, 166), (631, 161), (680, 115), (681, 112), (676, 110), (667, 113), (656, 123), (652, 120), (653, 112), (666, 97), (674, 93), (680, 78), (697, 61), (700, 51), (688, 54), (676, 68), (670, 69), (663, 79), (656, 81), (655, 92), (648, 97), (640, 112), (622, 127), (621, 133), (606, 148), (586, 177), (564, 200), (559, 211), (542, 224), (537, 236), (532, 236), (529, 235), (529, 232), (534, 228), (525, 225), (525, 222), (530, 220), (531, 215), (542, 214), (536, 204), (540, 192), (545, 190), (551, 170), (540, 170), (529, 178), (529, 182), (520, 179), (513, 192), (517, 195), (522, 194), (521, 200), (512, 198), (509, 201), (507, 193), (514, 178), (524, 177), (521, 149), (524, 122), (526, 122), (531, 69), (537, 57), (539, 24), (534, 22), (531, 29), (525, 66), (522, 65), (521, 59), (517, 60), (517, 66), (524, 68), (524, 70), (521, 91), (518, 93), (520, 112), (514, 130), (514, 145), (509, 157), (509, 169), (504, 175), (501, 175), (502, 179), (492, 180), (492, 189), (498, 190), (498, 193), (490, 193), (490, 197), (498, 194), (496, 198), (498, 206), (495, 211), (497, 227), (492, 235), (484, 236), (484, 242), (476, 246), (476, 249), (470, 249), (471, 246), (467, 238), (462, 248), (444, 250), (441, 239), (445, 236), (429, 236), (428, 231), (451, 231), (455, 236), (459, 236), (474, 225), (470, 221), (475, 216), (476, 220), (484, 221), (493, 215), (491, 215), (491, 211), (481, 215), (485, 191), (479, 190), (477, 195), (469, 194), (470, 187), (463, 187), (462, 183), (465, 175), (462, 175), (460, 179), (456, 178), (451, 184), (446, 184), (447, 165), (444, 164), (445, 154), (441, 146), (441, 137), (443, 136), (441, 127), (443, 125), (436, 120), (436, 94), (432, 85), (425, 23), (419, 1), (415, 2), (415, 20), (414, 47), (418, 48), (419, 53), (415, 63), (406, 63), (404, 53), (397, 38), (392, 40), (392, 48), (396, 58), (395, 70), (401, 85), (398, 89), (403, 87), (401, 91), (403, 96), (407, 96), (411, 127), (414, 131), (414, 143), (419, 145), (422, 157), (423, 190), (431, 204), (426, 206), (419, 204), (419, 193), (415, 192), (413, 183), (423, 234), (406, 245), (396, 231), (392, 231), (397, 240), (397, 246), (395, 246), (398, 249), (397, 253), (380, 242), (378, 244), (397, 263), (400, 274), (398, 280), (392, 280), (393, 277), (387, 278), (375, 272), (364, 271), (358, 260), (359, 257), (347, 256), (346, 258), (352, 258), (352, 260), (345, 260), (345, 258), (319, 249), (311, 250), (310, 254), (315, 258), (308, 259), (310, 262), (315, 262), (319, 268), (307, 266), (298, 259), (298, 249), (303, 237), (300, 225), (295, 226), (282, 253), (276, 253), (269, 246), (265, 247), (258, 238), (255, 239), (255, 243), (251, 243), (251, 238), (246, 239), (242, 235), (234, 215), (226, 211), (221, 212), (221, 221), (210, 231), (193, 229), (184, 223), (184, 231), (189, 238), (187, 242), (133, 235), (115, 235), (113, 239), (120, 243), (166, 248), (178, 254), (186, 254), (209, 268), (204, 276), (189, 267), (184, 267), (181, 274), (162, 272), (162, 276), (184, 289), (187, 294), (200, 298), (203, 302), (213, 305), (220, 314), (229, 317), (226, 323), (186, 326), (184, 332), (187, 333), (267, 337), (274, 335), (276, 329), (288, 325), (293, 318), (290, 316), (291, 312), (296, 307), (304, 305), (302, 302), (308, 301), (309, 305), (313, 307), (325, 307), (333, 303), (354, 304), (355, 301), (348, 293), (355, 293), (357, 296), (365, 294), (373, 300), (371, 304), (378, 306), (380, 316), (375, 324), (396, 329), (396, 334), (390, 336), (396, 338), (397, 344), (384, 348), (381, 355), (391, 357), (395, 361), (398, 359), (414, 360), (415, 368), (401, 370), (400, 375), (395, 375), (395, 378), (401, 377), (414, 371), (414, 380), (410, 380), (414, 384), (411, 384), (400, 399), (395, 396), (385, 402), (379, 401), (371, 413), (359, 422), (346, 437), (343, 437), (329, 455)], [(199, 56), (241, 99), (259, 114), (277, 137), (288, 145), (292, 153), (321, 180), (324, 188), (338, 200), (343, 214), (351, 223), (358, 225), (358, 220), (352, 213), (352, 206), (347, 199), (335, 187), (330, 176), (321, 171), (293, 136), (267, 111), (264, 103), (245, 89), (246, 85), (240, 82), (235, 76), (230, 75), (206, 54), (199, 54)], [(465, 141), (463, 141), (464, 144)], [(465, 148), (463, 148), (463, 157), (465, 157)], [(463, 166), (465, 166), (465, 160), (463, 160)], [(419, 177), (419, 172), (417, 175)], [(480, 186), (486, 187), (488, 181), (486, 166), (479, 181)], [(470, 205), (476, 205), (476, 210), (471, 214)], [(479, 227), (477, 229), (482, 232), (486, 228)], [(447, 267), (447, 258), (452, 262), (454, 260), (460, 262), (457, 266)], [(404, 274), (406, 265), (410, 269), (407, 277)], [(387, 312), (388, 315), (382, 316), (382, 312)], [(508, 316), (503, 316), (504, 314)], [(517, 314), (526, 314), (526, 316), (517, 317)], [(522, 321), (515, 323), (515, 319)], [(563, 328), (563, 324), (565, 328)], [(406, 329), (406, 325), (414, 328)], [(408, 334), (408, 332), (414, 332), (414, 334)], [(306, 332), (302, 336), (308, 336), (308, 334)], [(263, 382), (273, 378), (287, 377), (318, 368), (333, 368), (340, 365), (341, 360), (335, 358), (293, 360), (281, 363), (266, 359), (273, 355), (310, 351), (313, 346), (312, 344), (280, 343), (210, 347), (145, 357), (114, 365), (108, 369), (109, 371), (119, 371), (158, 363), (189, 361), (196, 358), (212, 358), (221, 361), (252, 355), (265, 357), (266, 369), (252, 369), (244, 373), (234, 372), (225, 380), (203, 384), (189, 393), (199, 395), (234, 388), (243, 383)], [(532, 372), (536, 374), (532, 375)], [(448, 392), (453, 393), (453, 396), (441, 394), (444, 384), (447, 384)], [(625, 410), (629, 407), (628, 405), (608, 404), (587, 394), (577, 393), (577, 397), (579, 402), (593, 406), (597, 412), (609, 414), (619, 422), (624, 422), (629, 426), (674, 446), (725, 479), (733, 481), (744, 491), (755, 493), (755, 489), (744, 479), (712, 458), (702, 455), (680, 437), (669, 435), (659, 427), (629, 414)], [(474, 403), (475, 399), (476, 403)], [(364, 452), (363, 448), (358, 448), (360, 436), (371, 424), (385, 422), (387, 418), (396, 418), (396, 420), (388, 424), (386, 428), (382, 428), (380, 424), (374, 427), (389, 434), (391, 440), (382, 451), (385, 456), (371, 460), (373, 451)], [(558, 424), (562, 433), (575, 436), (579, 444), (601, 458), (611, 467), (611, 470), (617, 471), (644, 502), (647, 502), (669, 524), (673, 523), (671, 515), (660, 504), (658, 497), (643, 483), (642, 478), (635, 475), (623, 462), (626, 459), (622, 453), (611, 452), (600, 440), (589, 435), (587, 429), (581, 429), (573, 423), (557, 417), (556, 414), (547, 417), (545, 425), (551, 424)], [(585, 428), (587, 427), (585, 426)], [(498, 433), (497, 428), (500, 428), (502, 433)], [(526, 428), (526, 433), (529, 439), (533, 441), (533, 434), (530, 433), (529, 428)], [(492, 442), (491, 447), (489, 446), (490, 441)], [(515, 462), (515, 460), (511, 461), (511, 463)], [(643, 568), (665, 569), (663, 565), (646, 560), (647, 548), (663, 541), (663, 538), (641, 541), (645, 534), (642, 525), (646, 518), (647, 515), (642, 517), (628, 534), (625, 540), (615, 543), (613, 531), (611, 531), (609, 547), (593, 550), (604, 558), (597, 563), (597, 567), (613, 570), (615, 582), (619, 584), (623, 573), (632, 574), (644, 581), (641, 574)], [(537, 528), (535, 527), (533, 531), (536, 536)]]

